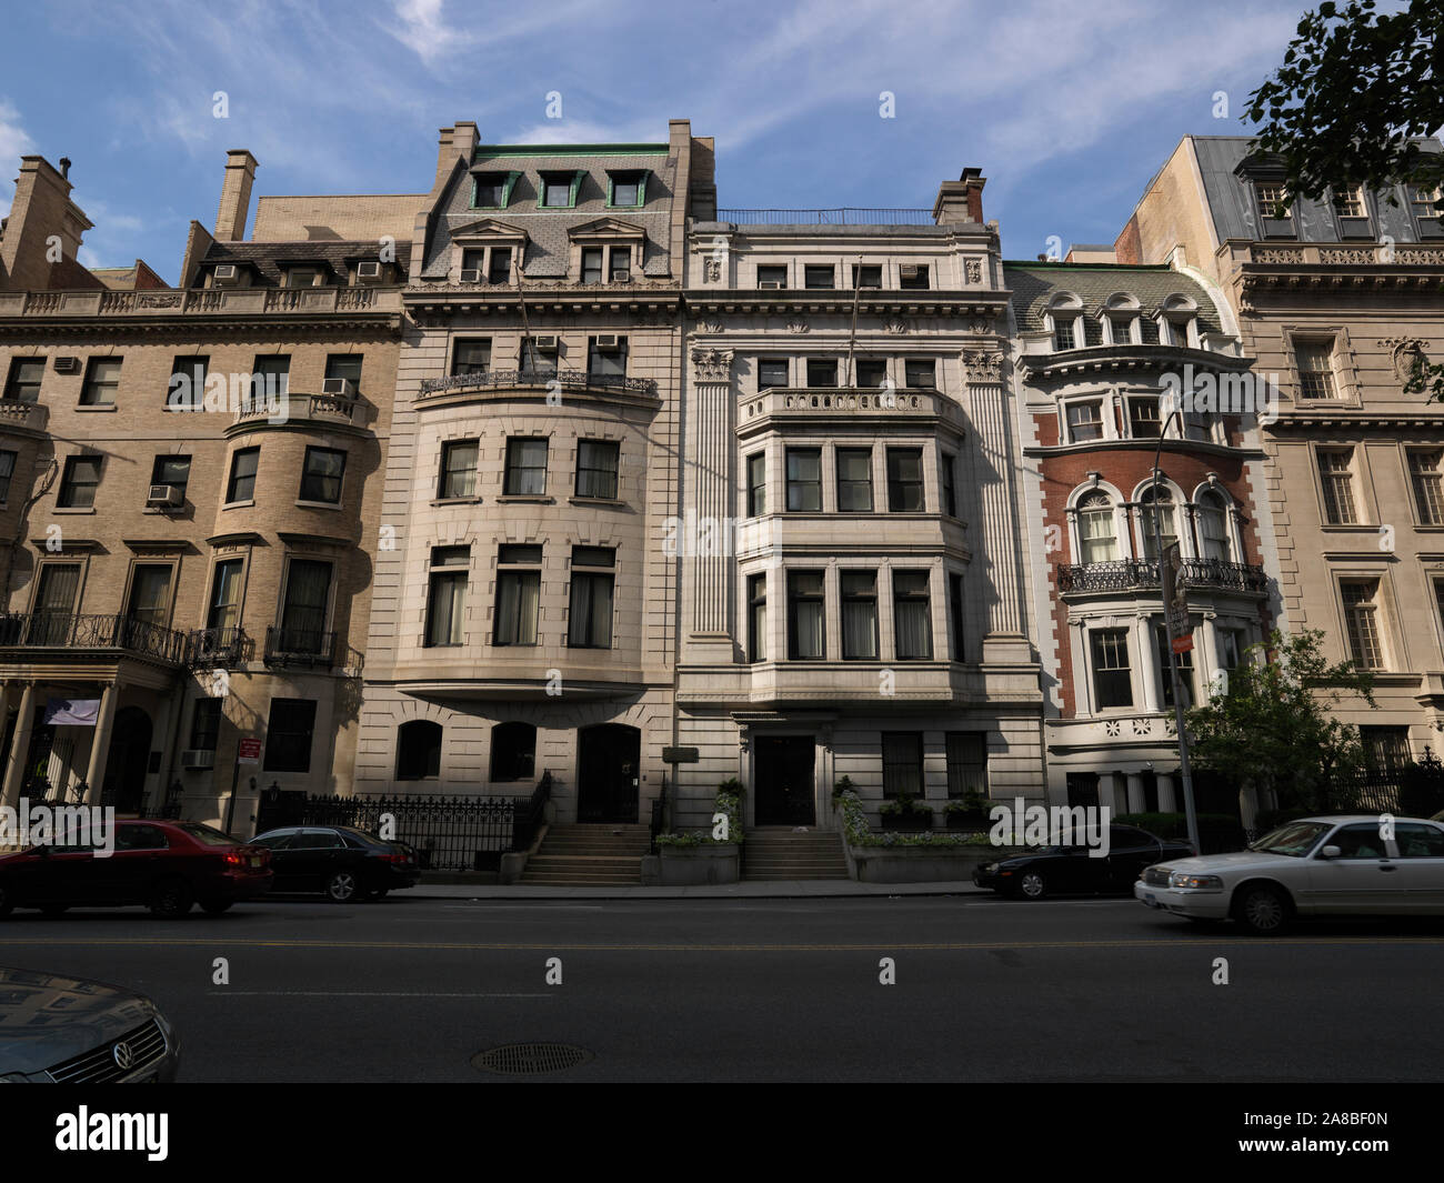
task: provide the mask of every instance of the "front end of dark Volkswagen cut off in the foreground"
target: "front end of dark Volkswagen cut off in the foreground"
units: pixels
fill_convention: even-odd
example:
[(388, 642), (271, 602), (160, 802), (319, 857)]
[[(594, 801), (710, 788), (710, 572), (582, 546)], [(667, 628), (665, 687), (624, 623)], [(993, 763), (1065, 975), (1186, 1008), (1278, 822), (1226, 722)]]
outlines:
[(0, 966), (0, 1082), (168, 1083), (179, 1063), (175, 1031), (143, 994)]

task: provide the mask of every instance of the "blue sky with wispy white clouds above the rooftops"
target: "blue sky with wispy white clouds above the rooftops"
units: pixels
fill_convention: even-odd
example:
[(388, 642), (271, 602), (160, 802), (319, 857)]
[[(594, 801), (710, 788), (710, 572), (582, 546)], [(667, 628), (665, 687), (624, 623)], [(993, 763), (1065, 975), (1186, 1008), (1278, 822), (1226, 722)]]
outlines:
[(979, 166), (1005, 254), (1031, 259), (1054, 234), (1112, 243), (1181, 136), (1243, 133), (1304, 7), (0, 0), (0, 209), (23, 153), (69, 156), (82, 260), (175, 282), (231, 147), (256, 153), (260, 195), (423, 192), (459, 118), (484, 143), (664, 140), (690, 118), (721, 205), (930, 207)]

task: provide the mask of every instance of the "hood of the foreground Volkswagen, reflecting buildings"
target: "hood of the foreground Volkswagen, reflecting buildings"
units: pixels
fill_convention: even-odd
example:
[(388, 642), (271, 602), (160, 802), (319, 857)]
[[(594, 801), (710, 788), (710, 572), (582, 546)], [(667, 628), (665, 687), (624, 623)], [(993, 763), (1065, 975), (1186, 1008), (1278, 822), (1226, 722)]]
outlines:
[(43, 1072), (155, 1014), (149, 998), (120, 987), (0, 966), (0, 1076)]

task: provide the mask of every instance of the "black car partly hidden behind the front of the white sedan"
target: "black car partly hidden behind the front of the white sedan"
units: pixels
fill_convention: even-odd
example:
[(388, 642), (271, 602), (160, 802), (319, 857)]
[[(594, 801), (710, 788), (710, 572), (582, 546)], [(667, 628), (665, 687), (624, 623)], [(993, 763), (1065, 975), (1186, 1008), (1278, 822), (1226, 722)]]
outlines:
[(978, 887), (1002, 896), (1041, 900), (1067, 893), (1129, 894), (1145, 867), (1194, 854), (1187, 842), (1158, 838), (1135, 826), (1108, 828), (1108, 854), (1090, 858), (1090, 846), (1032, 846), (973, 871)]

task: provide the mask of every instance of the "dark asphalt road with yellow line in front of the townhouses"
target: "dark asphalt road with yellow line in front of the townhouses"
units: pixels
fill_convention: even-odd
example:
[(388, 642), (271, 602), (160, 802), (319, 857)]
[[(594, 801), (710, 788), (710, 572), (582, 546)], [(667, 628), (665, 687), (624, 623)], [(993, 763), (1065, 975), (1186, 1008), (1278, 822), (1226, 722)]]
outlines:
[(1258, 940), (1131, 900), (400, 893), (179, 922), (19, 911), (0, 963), (152, 995), (180, 1033), (183, 1080), (507, 1080), (471, 1059), (518, 1041), (591, 1054), (527, 1078), (544, 1080), (1444, 1076), (1444, 922)]

